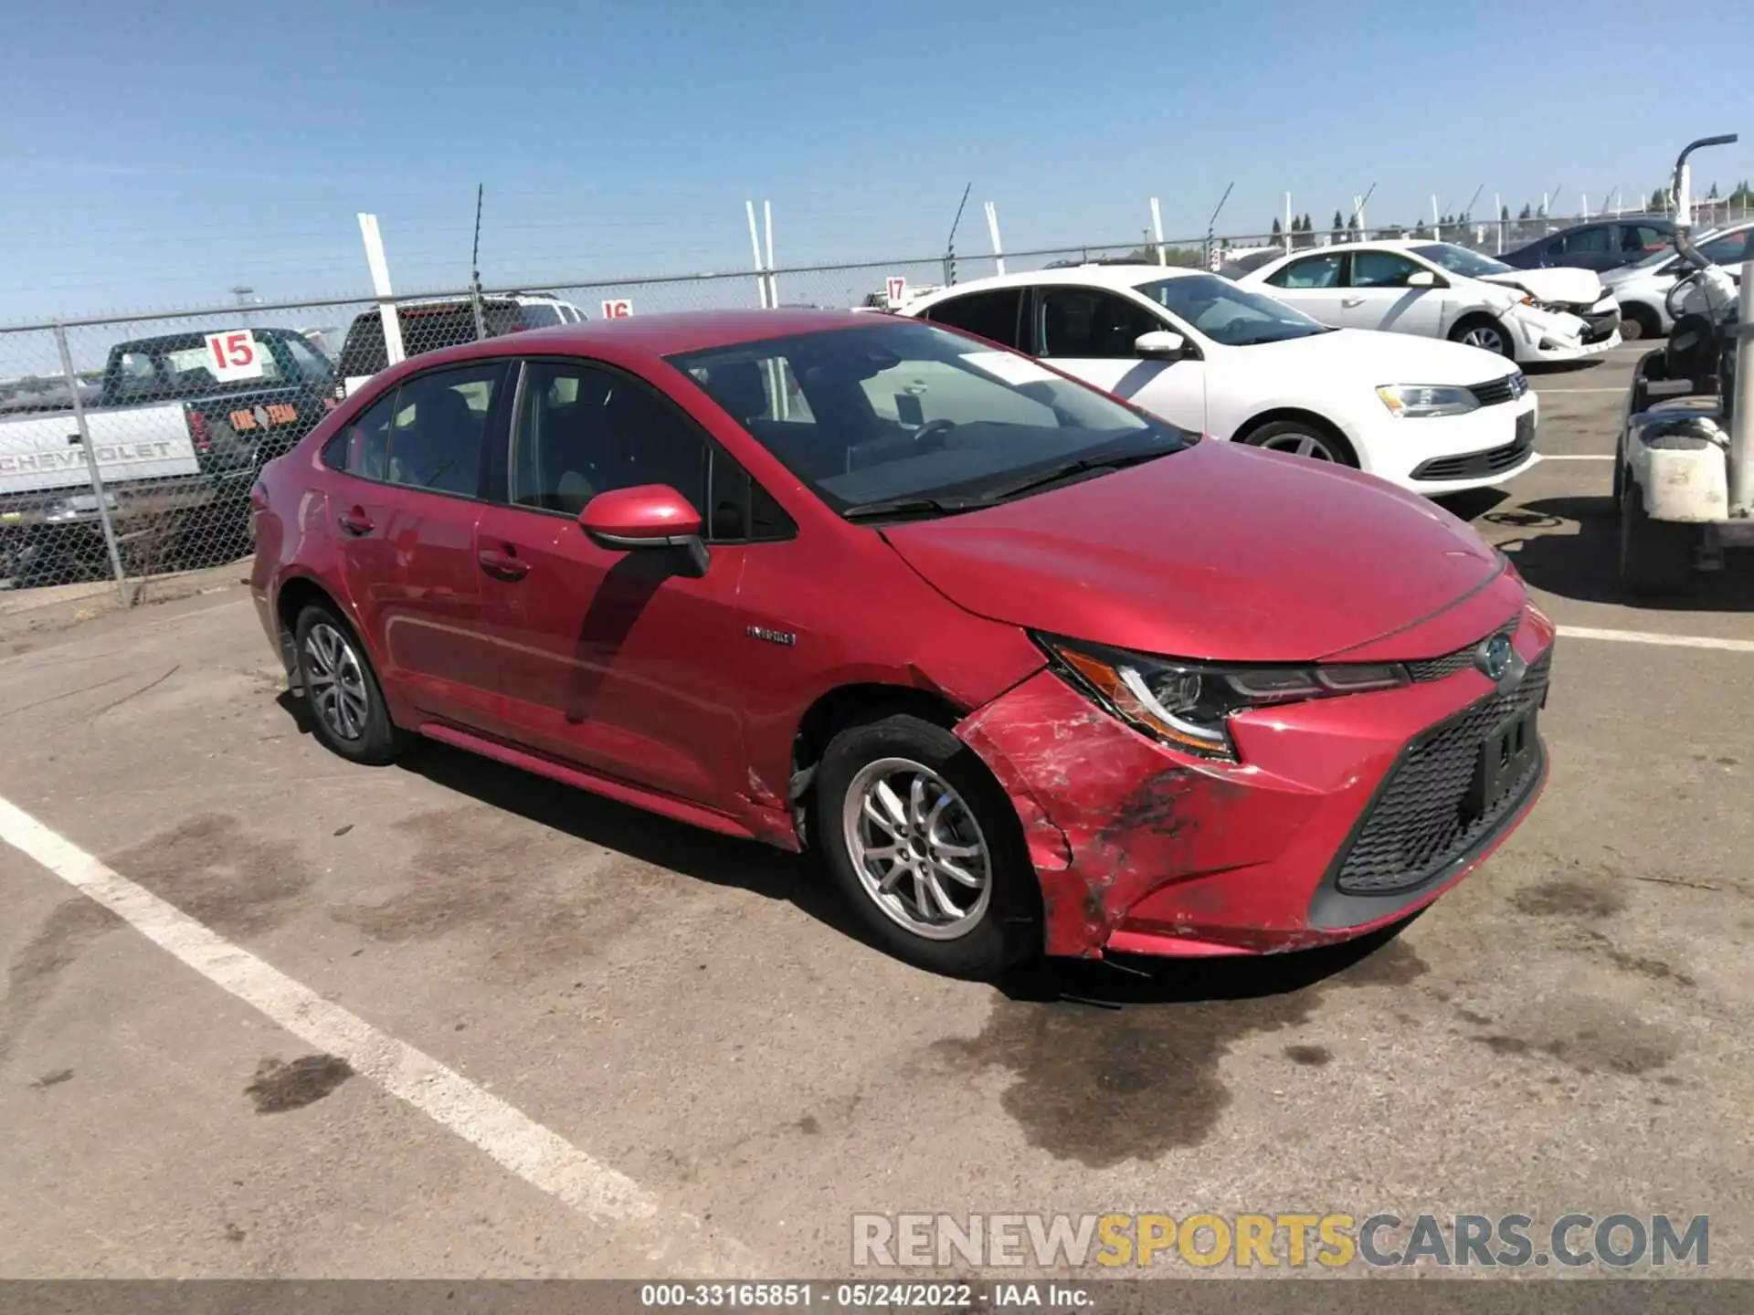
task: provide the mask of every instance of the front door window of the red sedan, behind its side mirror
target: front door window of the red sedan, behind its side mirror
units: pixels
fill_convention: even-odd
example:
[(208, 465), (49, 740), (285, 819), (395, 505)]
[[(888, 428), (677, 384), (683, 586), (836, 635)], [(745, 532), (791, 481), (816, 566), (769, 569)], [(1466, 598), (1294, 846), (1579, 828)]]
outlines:
[(512, 433), (512, 501), (577, 515), (598, 493), (668, 484), (707, 507), (707, 440), (652, 391), (586, 361), (530, 361)]

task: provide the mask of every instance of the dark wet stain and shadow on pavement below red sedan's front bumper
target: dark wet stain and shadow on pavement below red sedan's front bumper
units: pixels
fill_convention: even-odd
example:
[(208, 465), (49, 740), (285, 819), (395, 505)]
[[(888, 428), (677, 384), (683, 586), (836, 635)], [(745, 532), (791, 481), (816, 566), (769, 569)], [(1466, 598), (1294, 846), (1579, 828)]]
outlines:
[(1426, 964), (1410, 945), (1373, 938), (1240, 966), (1131, 975), (1072, 961), (1033, 971), (1007, 985), (979, 1036), (933, 1048), (952, 1068), (1007, 1070), (1002, 1105), (1031, 1145), (1110, 1168), (1200, 1145), (1231, 1101), (1219, 1064), (1238, 1041), (1301, 1027), (1337, 989), (1405, 989)]

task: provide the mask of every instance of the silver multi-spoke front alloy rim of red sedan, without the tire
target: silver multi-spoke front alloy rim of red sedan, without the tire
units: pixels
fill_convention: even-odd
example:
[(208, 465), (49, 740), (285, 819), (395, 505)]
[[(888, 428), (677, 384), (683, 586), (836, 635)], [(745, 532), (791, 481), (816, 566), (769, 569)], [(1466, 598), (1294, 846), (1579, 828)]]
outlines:
[(907, 757), (881, 757), (847, 785), (842, 833), (859, 885), (926, 940), (966, 935), (993, 899), (993, 859), (956, 789)]

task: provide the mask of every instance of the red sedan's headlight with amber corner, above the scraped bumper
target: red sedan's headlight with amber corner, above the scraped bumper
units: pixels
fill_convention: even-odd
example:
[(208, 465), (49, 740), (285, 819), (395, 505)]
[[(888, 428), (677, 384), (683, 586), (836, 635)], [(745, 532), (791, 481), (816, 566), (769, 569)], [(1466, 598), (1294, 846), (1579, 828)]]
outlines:
[(1219, 666), (1151, 658), (1077, 640), (1037, 635), (1061, 673), (1121, 721), (1200, 757), (1237, 761), (1230, 717), (1249, 708), (1405, 686), (1393, 663), (1331, 666)]

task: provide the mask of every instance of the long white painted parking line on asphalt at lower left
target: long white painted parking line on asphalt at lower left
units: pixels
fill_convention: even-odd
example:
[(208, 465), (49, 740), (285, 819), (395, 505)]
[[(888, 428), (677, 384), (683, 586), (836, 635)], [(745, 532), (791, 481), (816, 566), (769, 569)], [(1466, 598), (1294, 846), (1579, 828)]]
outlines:
[(759, 1271), (742, 1243), (716, 1238), (700, 1220), (665, 1208), (623, 1173), (475, 1085), (431, 1056), (381, 1033), (316, 991), (207, 929), (142, 885), (107, 868), (9, 800), (0, 800), (0, 840), (96, 899), (160, 949), (230, 991), (293, 1036), (346, 1059), (356, 1073), (563, 1201), (593, 1224), (645, 1247), (668, 1273)]

